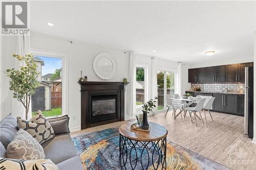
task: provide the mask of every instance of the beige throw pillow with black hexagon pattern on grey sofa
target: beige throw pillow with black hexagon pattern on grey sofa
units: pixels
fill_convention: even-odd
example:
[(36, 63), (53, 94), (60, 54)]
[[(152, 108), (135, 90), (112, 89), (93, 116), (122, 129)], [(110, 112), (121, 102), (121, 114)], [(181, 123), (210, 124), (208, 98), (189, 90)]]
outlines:
[(55, 136), (54, 131), (41, 111), (38, 110), (29, 121), (17, 117), (18, 129), (24, 129), (31, 134), (40, 144)]

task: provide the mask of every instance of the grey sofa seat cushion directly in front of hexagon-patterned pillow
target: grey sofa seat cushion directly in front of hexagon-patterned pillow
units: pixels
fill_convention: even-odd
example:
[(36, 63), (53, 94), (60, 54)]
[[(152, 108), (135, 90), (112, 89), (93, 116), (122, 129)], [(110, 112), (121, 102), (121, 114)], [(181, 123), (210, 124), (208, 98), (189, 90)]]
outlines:
[(68, 133), (56, 135), (53, 139), (42, 143), (46, 159), (51, 159), (55, 164), (77, 156), (74, 143)]

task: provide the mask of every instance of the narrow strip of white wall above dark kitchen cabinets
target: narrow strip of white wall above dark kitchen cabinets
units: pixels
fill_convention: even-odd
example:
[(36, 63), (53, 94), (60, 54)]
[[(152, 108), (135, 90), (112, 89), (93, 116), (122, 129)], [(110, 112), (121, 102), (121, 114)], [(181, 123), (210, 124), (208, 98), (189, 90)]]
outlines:
[(251, 57), (236, 57), (229, 60), (218, 60), (212, 61), (208, 63), (198, 63), (198, 64), (190, 64), (189, 68), (198, 68), (198, 67), (209, 67), (209, 66), (217, 66), (217, 65), (227, 65), (227, 64), (237, 64), (237, 63), (246, 63), (253, 62), (253, 56)]

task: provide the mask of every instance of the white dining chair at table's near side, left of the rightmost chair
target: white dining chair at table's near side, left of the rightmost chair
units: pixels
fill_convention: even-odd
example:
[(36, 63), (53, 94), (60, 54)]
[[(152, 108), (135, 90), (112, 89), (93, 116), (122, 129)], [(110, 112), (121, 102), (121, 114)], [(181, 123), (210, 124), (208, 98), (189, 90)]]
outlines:
[[(204, 107), (204, 102), (205, 102), (205, 100), (206, 100), (206, 98), (200, 99), (199, 102), (197, 103), (197, 106), (196, 106), (196, 107), (188, 107), (188, 108), (185, 109), (186, 111), (189, 112), (190, 118), (191, 118), (191, 112), (194, 113), (196, 126), (197, 126), (197, 118), (198, 118), (199, 120), (202, 120), (202, 122), (203, 122), (203, 124), (204, 124), (204, 120), (203, 120), (203, 118), (202, 118), (201, 111), (202, 111), (202, 109), (203, 109), (203, 107)], [(185, 120), (186, 113), (187, 113), (186, 111), (185, 111), (185, 114), (184, 114), (184, 120)], [(197, 115), (197, 112), (199, 112), (200, 117)], [(196, 118), (196, 117), (197, 117), (197, 118)], [(183, 120), (183, 122), (184, 122), (184, 120)], [(192, 119), (191, 119), (191, 121), (192, 121)]]

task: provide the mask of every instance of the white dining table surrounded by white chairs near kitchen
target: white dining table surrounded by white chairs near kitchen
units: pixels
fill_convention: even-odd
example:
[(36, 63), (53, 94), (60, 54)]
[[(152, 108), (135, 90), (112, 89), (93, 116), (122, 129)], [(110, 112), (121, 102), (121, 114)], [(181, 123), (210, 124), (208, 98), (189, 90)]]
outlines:
[(185, 111), (186, 108), (188, 108), (191, 104), (193, 103), (198, 103), (198, 101), (200, 100), (200, 98), (167, 98), (167, 99), (172, 99), (173, 100), (173, 108), (178, 108), (180, 109), (180, 112), (176, 115), (176, 113), (174, 113), (174, 120), (183, 112)]

